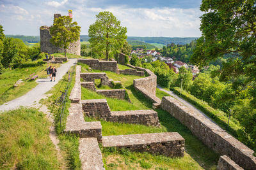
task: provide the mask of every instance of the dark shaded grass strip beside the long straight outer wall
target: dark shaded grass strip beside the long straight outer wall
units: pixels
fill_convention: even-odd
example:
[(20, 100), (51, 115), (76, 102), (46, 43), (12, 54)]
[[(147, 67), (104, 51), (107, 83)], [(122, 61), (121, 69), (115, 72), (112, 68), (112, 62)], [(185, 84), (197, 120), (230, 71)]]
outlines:
[(179, 120), (172, 117), (167, 111), (157, 109), (157, 115), (161, 125), (168, 132), (178, 132), (185, 139), (186, 152), (204, 169), (214, 169), (218, 164), (219, 153), (214, 152), (204, 145), (189, 129), (182, 125)]

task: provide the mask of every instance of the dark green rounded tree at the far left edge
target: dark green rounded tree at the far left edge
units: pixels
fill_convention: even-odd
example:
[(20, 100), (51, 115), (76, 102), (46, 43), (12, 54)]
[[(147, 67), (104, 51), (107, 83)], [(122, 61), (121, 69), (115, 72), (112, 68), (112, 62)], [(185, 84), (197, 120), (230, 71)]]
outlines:
[(9, 67), (11, 69), (11, 64), (13, 62), (13, 59), (17, 55), (18, 50), (17, 46), (15, 45), (15, 42), (13, 41), (13, 38), (5, 38), (4, 39), (4, 48), (3, 48), (3, 59), (1, 60), (1, 63), (4, 67)]

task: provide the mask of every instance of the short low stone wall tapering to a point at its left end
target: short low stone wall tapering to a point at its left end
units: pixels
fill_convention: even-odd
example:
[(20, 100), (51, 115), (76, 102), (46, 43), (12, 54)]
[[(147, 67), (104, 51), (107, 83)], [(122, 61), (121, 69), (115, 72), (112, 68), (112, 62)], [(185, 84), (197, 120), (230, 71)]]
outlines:
[(97, 90), (96, 92), (107, 97), (125, 100), (125, 89)]

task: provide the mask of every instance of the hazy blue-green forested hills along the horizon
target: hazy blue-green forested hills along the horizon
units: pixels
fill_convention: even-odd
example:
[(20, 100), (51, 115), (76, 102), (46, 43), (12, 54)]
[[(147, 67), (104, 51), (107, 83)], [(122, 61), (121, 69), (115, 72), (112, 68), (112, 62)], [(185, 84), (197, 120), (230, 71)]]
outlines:
[[(22, 39), (22, 41), (27, 41), (28, 43), (38, 43), (40, 41), (40, 36), (22, 36), (22, 35), (6, 35), (6, 37), (12, 37), (12, 38), (19, 38)], [(144, 43), (154, 43), (155, 45), (167, 45), (170, 43), (175, 43), (179, 45), (185, 45), (187, 43), (190, 43), (191, 41), (197, 39), (196, 37), (186, 37), (186, 38), (180, 38), (180, 37), (138, 37), (138, 36), (128, 36), (127, 41), (141, 41)], [(88, 35), (81, 35), (80, 36), (81, 41), (88, 41), (89, 36)], [(137, 42), (138, 43), (138, 42)], [(157, 46), (158, 46), (157, 45)], [(153, 47), (154, 48), (154, 47)]]

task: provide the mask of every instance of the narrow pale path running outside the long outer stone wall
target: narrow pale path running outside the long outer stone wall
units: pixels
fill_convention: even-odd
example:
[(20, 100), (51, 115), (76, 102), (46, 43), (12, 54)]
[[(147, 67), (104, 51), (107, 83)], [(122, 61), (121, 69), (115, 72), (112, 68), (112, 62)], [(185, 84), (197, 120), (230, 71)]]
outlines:
[[(170, 90), (165, 90), (163, 89), (163, 87), (160, 87), (159, 85), (157, 85), (157, 88), (159, 90), (162, 90), (163, 92), (166, 92), (168, 94), (170, 94), (170, 96), (174, 97), (175, 99), (177, 99), (178, 101), (180, 101), (182, 104), (184, 104), (185, 106), (187, 106), (188, 108), (190, 108), (191, 110), (197, 111), (199, 113), (201, 113), (205, 118), (208, 118), (212, 123), (216, 124), (213, 120), (211, 120), (211, 118), (207, 117), (207, 115), (205, 115), (204, 112), (198, 110), (197, 108), (195, 108), (195, 106), (191, 103), (188, 103), (187, 101), (185, 101), (184, 99), (182, 99), (181, 97), (177, 96), (177, 94), (173, 93)], [(218, 124), (216, 124), (218, 125)]]

